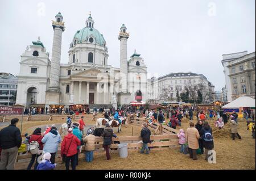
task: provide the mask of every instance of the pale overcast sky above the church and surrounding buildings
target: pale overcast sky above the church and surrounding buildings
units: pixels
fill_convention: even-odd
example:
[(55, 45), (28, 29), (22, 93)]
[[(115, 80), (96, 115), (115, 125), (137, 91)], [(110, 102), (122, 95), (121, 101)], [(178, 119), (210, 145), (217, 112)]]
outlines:
[(222, 54), (255, 51), (254, 0), (94, 0), (0, 1), (0, 71), (19, 73), (20, 55), (38, 36), (52, 52), (51, 20), (61, 12), (65, 22), (61, 63), (89, 11), (109, 49), (109, 65), (119, 68), (118, 32), (124, 23), (130, 38), (128, 56), (141, 54), (148, 72), (204, 74), (215, 90), (225, 85)]

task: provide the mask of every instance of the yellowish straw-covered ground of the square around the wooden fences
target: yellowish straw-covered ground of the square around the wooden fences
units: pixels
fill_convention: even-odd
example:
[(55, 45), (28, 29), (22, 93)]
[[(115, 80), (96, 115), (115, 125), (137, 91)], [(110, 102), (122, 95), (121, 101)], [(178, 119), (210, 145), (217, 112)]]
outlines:
[[(22, 133), (32, 133), (36, 126), (61, 124), (64, 121), (28, 121), (23, 122)], [(196, 117), (193, 120), (196, 123)], [(86, 124), (94, 124), (91, 120), (85, 120)], [(255, 169), (255, 140), (251, 132), (247, 131), (246, 121), (238, 120), (238, 133), (242, 140), (232, 140), (230, 137), (229, 125), (223, 129), (214, 127), (214, 121), (209, 121), (213, 128), (214, 150), (216, 151), (216, 164), (210, 164), (204, 160), (204, 155), (198, 155), (198, 160), (189, 159), (189, 155), (179, 153), (179, 149), (152, 150), (149, 155), (139, 154), (137, 151), (129, 152), (128, 158), (119, 158), (119, 155), (112, 154), (112, 159), (106, 161), (105, 155), (94, 157), (92, 163), (80, 160), (77, 169)], [(20, 128), (20, 123), (18, 125)], [(181, 127), (187, 129), (189, 120), (183, 119)], [(0, 128), (1, 129), (1, 128)], [(138, 136), (141, 127), (128, 125), (122, 127), (122, 133), (118, 136)], [(133, 133), (132, 133), (133, 132)], [(65, 169), (64, 164), (59, 164), (56, 169)]]

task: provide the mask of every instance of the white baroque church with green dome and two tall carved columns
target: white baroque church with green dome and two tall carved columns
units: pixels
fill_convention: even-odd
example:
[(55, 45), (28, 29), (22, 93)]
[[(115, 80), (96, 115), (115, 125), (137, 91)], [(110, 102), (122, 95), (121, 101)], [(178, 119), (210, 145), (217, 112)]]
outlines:
[(75, 32), (67, 64), (60, 64), (65, 31), (59, 12), (52, 20), (51, 59), (43, 42), (32, 41), (20, 56), (16, 104), (48, 108), (71, 106), (115, 107), (147, 102), (147, 66), (136, 50), (128, 60), (129, 33), (123, 24), (118, 34), (120, 68), (109, 65), (104, 36), (89, 15), (85, 27)]

